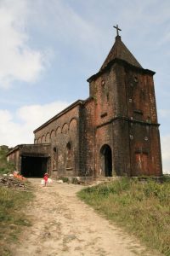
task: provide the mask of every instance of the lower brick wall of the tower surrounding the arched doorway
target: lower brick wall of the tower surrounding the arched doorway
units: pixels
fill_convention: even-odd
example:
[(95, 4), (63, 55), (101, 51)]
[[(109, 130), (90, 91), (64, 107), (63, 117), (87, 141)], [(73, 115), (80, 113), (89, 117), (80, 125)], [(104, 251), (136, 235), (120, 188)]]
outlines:
[[(123, 176), (130, 173), (128, 122), (115, 119), (108, 125), (100, 126), (96, 132), (97, 169), (101, 165), (101, 148), (109, 145), (112, 152), (112, 175)], [(105, 173), (103, 172), (105, 176)]]

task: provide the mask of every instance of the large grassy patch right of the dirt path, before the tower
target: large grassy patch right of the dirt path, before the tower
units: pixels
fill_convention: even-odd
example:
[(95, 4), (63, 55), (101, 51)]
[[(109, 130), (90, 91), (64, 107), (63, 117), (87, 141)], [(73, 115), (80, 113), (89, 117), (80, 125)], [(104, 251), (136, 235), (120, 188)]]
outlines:
[(162, 183), (125, 177), (83, 189), (78, 196), (148, 247), (170, 255), (170, 177)]

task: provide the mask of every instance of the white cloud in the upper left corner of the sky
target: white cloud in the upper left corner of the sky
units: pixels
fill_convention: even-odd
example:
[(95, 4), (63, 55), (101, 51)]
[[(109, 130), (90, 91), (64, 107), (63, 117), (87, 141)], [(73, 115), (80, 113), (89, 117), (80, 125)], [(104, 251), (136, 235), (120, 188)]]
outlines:
[(26, 0), (2, 0), (0, 3), (0, 87), (14, 80), (35, 82), (44, 67), (41, 51), (28, 45)]

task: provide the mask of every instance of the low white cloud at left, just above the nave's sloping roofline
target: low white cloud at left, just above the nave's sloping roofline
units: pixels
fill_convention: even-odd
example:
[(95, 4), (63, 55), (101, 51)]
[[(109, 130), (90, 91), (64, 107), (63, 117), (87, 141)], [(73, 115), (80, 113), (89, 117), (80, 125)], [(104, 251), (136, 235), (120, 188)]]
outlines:
[(8, 110), (0, 110), (0, 145), (14, 147), (18, 144), (34, 143), (33, 131), (68, 105), (68, 102), (52, 102), (24, 106), (14, 114)]

